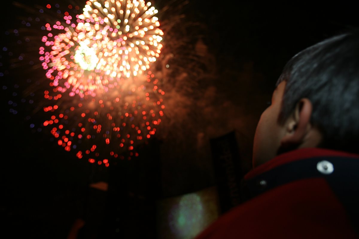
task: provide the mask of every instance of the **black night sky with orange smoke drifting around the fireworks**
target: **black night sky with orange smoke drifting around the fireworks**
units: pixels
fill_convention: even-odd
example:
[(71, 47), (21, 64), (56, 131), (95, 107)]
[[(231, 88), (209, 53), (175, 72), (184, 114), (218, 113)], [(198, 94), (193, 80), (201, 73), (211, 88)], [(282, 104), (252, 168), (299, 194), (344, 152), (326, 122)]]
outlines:
[[(9, 112), (11, 74), (3, 81), (1, 86), (7, 89), (1, 92), (0, 215), (6, 221), (2, 228), (15, 230), (10, 230), (13, 235), (25, 231), (37, 238), (65, 238), (73, 221), (89, 208), (112, 208), (124, 212), (128, 228), (141, 230), (142, 225), (149, 230), (155, 225), (146, 223), (151, 220), (149, 214), (138, 208), (215, 185), (210, 139), (234, 130), (242, 173), (248, 172), (255, 127), (284, 64), (320, 40), (359, 27), (357, 8), (342, 2), (263, 5), (190, 0), (177, 9), (176, 4), (183, 2), (154, 2), (159, 11), (169, 6), (164, 18), (184, 15), (168, 32), (173, 40), (170, 47), (164, 43), (163, 52), (174, 54), (168, 61), (174, 70), (164, 76), (167, 83), (163, 85), (168, 92), (164, 99), (167, 121), (163, 120), (158, 136), (139, 146), (142, 154), (137, 161), (97, 167), (65, 152), (49, 134), (29, 128), (24, 121), (31, 115), (26, 105), (18, 105), (16, 115)], [(50, 1), (37, 2), (45, 3)], [(12, 2), (5, 6), (2, 36), (21, 26), (21, 16), (30, 14)], [(1, 48), (11, 46), (8, 38), (0, 39)], [(11, 64), (6, 54), (1, 52), (0, 72)], [(21, 74), (26, 77), (27, 72)], [(120, 195), (122, 201), (88, 190), (90, 183), (100, 181), (116, 182), (109, 192)], [(89, 200), (95, 197), (99, 197), (94, 202), (97, 206)], [(144, 224), (132, 225), (138, 223), (136, 215)]]

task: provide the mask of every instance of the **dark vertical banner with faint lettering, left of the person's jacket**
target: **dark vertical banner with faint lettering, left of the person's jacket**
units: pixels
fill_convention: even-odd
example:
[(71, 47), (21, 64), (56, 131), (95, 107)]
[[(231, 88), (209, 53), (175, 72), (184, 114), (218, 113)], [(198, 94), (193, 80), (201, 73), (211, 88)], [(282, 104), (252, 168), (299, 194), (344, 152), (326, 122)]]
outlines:
[(241, 158), (236, 132), (210, 140), (221, 213), (241, 203)]

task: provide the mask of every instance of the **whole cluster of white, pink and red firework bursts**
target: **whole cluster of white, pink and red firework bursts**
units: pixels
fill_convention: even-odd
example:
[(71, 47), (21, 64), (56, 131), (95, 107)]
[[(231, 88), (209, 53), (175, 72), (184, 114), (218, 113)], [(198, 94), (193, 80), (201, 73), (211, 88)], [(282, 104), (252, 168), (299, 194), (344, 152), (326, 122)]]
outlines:
[[(135, 147), (155, 134), (164, 114), (164, 91), (150, 69), (159, 57), (163, 32), (150, 5), (142, 0), (87, 1), (82, 14), (69, 5), (54, 18), (48, 4), (38, 9), (45, 21), (25, 21), (26, 47), (3, 51), (19, 55), (10, 68), (33, 76), (14, 86), (22, 89), (19, 101), (36, 104), (27, 116), (31, 128), (47, 129), (60, 147), (91, 163), (108, 166), (111, 159), (138, 155)], [(39, 25), (41, 38), (34, 29)], [(12, 32), (20, 38), (19, 30)], [(11, 105), (17, 105), (15, 100)]]

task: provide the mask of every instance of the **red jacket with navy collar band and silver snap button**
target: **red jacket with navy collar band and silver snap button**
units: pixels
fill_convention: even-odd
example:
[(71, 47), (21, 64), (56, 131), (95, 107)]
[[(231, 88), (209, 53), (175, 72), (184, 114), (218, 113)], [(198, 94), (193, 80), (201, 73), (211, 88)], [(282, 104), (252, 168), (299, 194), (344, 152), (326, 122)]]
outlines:
[(252, 199), (197, 236), (359, 238), (359, 155), (320, 148), (283, 153), (244, 177)]

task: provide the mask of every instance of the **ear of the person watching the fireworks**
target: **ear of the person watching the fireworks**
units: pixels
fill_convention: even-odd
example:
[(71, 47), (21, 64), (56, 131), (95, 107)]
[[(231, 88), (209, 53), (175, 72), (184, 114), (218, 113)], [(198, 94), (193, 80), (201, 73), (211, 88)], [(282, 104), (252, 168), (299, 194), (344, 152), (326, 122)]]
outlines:
[(295, 148), (303, 143), (305, 137), (311, 128), (312, 102), (307, 99), (301, 99), (289, 119), (285, 123), (285, 135), (281, 139), (281, 147)]

